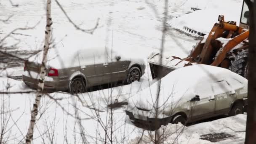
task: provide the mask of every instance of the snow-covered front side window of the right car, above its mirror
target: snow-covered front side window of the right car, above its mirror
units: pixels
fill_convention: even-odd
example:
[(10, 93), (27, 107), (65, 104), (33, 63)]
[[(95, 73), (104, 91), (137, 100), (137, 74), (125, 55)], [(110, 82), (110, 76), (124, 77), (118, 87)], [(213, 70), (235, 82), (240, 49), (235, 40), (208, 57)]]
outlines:
[(201, 83), (200, 85), (197, 85), (195, 92), (200, 96), (200, 99), (214, 99), (213, 89), (209, 83)]

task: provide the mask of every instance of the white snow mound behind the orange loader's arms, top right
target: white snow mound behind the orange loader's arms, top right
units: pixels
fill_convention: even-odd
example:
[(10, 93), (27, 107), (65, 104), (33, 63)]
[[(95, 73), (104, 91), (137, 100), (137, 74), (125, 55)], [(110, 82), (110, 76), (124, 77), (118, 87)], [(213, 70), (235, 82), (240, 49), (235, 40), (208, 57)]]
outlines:
[(184, 27), (188, 27), (207, 34), (218, 22), (219, 15), (224, 15), (225, 21), (236, 21), (239, 25), (243, 0), (225, 0), (225, 3), (222, 0), (200, 0), (197, 3), (188, 0), (186, 4), (201, 10), (171, 19), (170, 26), (181, 31), (184, 31)]

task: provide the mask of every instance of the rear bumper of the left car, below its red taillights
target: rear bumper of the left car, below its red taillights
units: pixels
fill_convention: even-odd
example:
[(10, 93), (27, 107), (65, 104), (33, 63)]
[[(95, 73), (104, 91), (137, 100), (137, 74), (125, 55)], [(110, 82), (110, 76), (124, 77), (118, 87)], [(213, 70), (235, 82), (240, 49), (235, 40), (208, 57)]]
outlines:
[[(39, 80), (22, 75), (23, 82), (26, 83), (30, 88), (37, 89)], [(68, 81), (67, 80), (56, 80), (56, 81), (47, 81), (44, 83), (45, 91), (67, 91), (68, 90)]]

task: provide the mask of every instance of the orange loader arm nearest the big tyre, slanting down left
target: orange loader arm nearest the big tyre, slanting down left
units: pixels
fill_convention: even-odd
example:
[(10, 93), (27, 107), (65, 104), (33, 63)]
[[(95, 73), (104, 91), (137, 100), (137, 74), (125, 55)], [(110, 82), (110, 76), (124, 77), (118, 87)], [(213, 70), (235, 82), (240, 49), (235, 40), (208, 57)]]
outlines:
[(230, 51), (232, 48), (234, 48), (236, 45), (241, 43), (243, 40), (249, 37), (249, 30), (243, 32), (240, 35), (237, 35), (232, 40), (229, 40), (229, 42), (224, 46), (221, 53), (216, 57), (216, 59), (211, 64), (212, 66), (219, 66), (221, 62), (226, 58), (227, 52)]

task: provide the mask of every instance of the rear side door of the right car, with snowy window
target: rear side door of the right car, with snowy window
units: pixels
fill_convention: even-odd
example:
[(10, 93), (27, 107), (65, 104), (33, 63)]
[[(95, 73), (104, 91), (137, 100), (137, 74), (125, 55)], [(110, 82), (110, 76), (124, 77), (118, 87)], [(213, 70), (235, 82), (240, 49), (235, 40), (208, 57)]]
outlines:
[[(232, 81), (229, 80), (231, 84)], [(236, 99), (235, 89), (226, 80), (213, 83), (213, 93), (216, 99), (216, 114), (226, 114), (233, 101)]]

